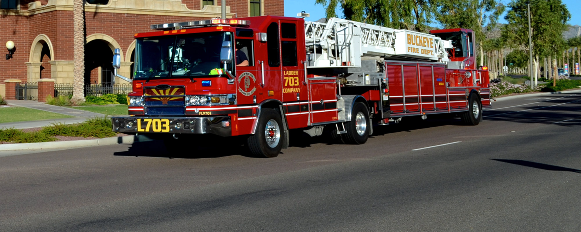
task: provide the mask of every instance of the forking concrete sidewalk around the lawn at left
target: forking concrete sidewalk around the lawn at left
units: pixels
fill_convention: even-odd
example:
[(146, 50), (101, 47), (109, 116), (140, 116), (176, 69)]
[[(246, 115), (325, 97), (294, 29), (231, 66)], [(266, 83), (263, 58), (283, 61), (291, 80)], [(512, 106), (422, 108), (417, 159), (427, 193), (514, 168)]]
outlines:
[(6, 102), (8, 102), (8, 104), (11, 106), (20, 106), (26, 108), (33, 108), (36, 110), (44, 110), (52, 113), (73, 116), (74, 118), (56, 118), (40, 121), (6, 122), (0, 124), (0, 129), (3, 128), (27, 129), (42, 126), (50, 126), (51, 124), (76, 124), (78, 122), (84, 122), (89, 118), (105, 117), (105, 114), (92, 113), (89, 111), (77, 110), (75, 108), (52, 106), (49, 104), (44, 104), (42, 102), (28, 100), (6, 100)]

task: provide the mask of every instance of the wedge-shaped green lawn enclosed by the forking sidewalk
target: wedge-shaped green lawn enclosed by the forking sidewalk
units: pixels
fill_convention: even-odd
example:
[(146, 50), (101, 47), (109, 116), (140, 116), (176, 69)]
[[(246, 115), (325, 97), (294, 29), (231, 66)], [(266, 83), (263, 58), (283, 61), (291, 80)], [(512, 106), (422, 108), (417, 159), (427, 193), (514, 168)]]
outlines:
[(73, 118), (73, 116), (34, 110), (24, 107), (0, 107), (0, 123), (36, 121), (56, 118)]

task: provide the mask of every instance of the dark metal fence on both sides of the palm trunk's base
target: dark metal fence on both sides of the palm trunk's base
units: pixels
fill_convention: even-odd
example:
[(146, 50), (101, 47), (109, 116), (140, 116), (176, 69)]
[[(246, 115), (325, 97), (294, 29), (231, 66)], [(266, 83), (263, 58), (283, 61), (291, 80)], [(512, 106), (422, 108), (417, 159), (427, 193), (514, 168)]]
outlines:
[[(131, 84), (105, 84), (105, 85), (89, 85), (85, 86), (85, 96), (103, 96), (107, 93), (123, 94), (131, 93)], [(59, 83), (55, 84), (55, 96), (71, 96), (73, 95), (73, 84)]]

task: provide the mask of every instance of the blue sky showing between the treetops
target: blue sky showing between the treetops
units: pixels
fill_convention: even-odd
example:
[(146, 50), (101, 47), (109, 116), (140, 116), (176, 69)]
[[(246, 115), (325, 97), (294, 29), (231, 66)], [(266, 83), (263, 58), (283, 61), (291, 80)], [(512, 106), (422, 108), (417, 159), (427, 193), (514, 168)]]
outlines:
[[(501, 0), (505, 5), (510, 2), (508, 0)], [(581, 26), (581, 14), (573, 12), (573, 7), (579, 5), (579, 0), (561, 0), (569, 12), (571, 12), (571, 20), (568, 21), (571, 25)], [(307, 12), (311, 14), (311, 17), (307, 18), (307, 21), (316, 21), (325, 17), (325, 8), (322, 5), (315, 5), (315, 0), (286, 0), (285, 1), (285, 16), (296, 17), (296, 13)], [(337, 12), (341, 15), (341, 12)], [(501, 16), (504, 17), (504, 16)], [(505, 23), (504, 19), (500, 19), (500, 23)], [(437, 25), (434, 25), (437, 26)]]

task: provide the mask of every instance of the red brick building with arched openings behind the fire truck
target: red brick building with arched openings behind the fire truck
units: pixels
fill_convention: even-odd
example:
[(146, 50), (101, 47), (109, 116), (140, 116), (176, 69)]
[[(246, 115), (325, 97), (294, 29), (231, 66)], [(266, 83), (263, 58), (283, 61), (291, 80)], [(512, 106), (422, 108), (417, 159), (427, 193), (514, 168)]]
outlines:
[[(85, 83), (112, 82), (113, 50), (119, 74), (130, 77), (133, 35), (151, 24), (220, 17), (221, 0), (94, 0), (85, 4)], [(284, 0), (226, 0), (227, 17), (284, 15)], [(73, 82), (73, 0), (0, 0), (0, 44), (13, 41), (12, 59), (0, 61), (0, 95), (12, 82)], [(4, 48), (6, 49), (6, 48)], [(8, 53), (7, 50), (5, 50)], [(123, 83), (119, 78), (115, 83)], [(127, 82), (125, 82), (127, 83)], [(8, 86), (7, 86), (8, 84)]]

